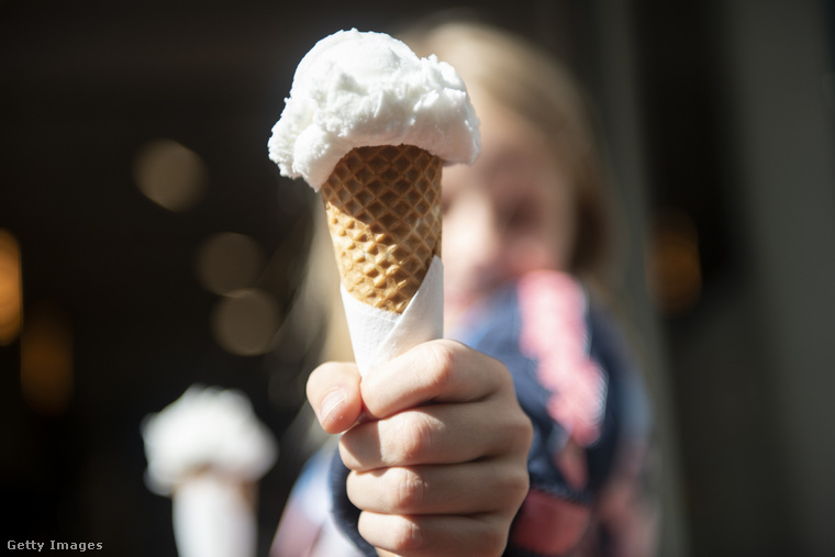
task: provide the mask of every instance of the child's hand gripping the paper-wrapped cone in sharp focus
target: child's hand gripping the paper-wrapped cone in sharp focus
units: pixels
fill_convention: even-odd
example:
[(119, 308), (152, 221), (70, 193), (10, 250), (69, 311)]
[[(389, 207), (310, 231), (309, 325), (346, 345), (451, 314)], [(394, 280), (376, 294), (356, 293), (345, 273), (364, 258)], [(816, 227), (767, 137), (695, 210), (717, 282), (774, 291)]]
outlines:
[(347, 492), (371, 545), (409, 557), (502, 554), (527, 493), (532, 426), (501, 363), (433, 341), (361, 382), (356, 366), (325, 364), (308, 398), (325, 431), (347, 432)]

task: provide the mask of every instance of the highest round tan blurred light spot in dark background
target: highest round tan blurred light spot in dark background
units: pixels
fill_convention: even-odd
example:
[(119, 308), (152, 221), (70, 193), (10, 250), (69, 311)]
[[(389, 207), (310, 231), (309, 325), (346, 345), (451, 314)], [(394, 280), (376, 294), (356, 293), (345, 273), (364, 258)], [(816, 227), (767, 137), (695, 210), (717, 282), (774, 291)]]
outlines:
[(148, 199), (170, 211), (183, 211), (203, 194), (207, 170), (191, 149), (172, 140), (145, 144), (134, 159), (134, 180)]

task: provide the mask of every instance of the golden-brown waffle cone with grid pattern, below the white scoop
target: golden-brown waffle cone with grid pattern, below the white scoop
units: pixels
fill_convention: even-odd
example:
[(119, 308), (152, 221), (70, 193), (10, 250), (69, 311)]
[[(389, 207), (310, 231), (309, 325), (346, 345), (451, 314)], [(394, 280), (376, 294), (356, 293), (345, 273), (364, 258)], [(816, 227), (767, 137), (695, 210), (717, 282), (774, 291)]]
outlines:
[(322, 186), (336, 263), (347, 292), (403, 313), (441, 256), (443, 161), (411, 145), (357, 147)]

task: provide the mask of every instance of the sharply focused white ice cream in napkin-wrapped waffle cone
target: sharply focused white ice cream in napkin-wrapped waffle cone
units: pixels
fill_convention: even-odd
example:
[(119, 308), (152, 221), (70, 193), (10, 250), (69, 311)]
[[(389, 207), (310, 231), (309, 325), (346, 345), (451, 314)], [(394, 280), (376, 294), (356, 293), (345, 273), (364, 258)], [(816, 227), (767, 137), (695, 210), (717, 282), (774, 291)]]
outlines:
[(478, 125), (452, 66), (383, 33), (329, 35), (296, 69), (269, 157), (322, 192), (360, 375), (443, 336), (441, 171), (475, 161)]

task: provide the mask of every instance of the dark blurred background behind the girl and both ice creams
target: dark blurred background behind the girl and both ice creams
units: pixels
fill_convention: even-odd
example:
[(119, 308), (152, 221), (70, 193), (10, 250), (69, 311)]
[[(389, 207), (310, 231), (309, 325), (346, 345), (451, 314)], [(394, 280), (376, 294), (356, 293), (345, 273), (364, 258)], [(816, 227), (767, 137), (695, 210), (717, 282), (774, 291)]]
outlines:
[[(4, 541), (175, 555), (140, 423), (203, 382), (244, 390), (281, 444), (266, 553), (320, 347), (281, 327), (312, 198), (266, 158), (269, 130), (318, 38), (458, 5), (286, 4), (0, 1), (0, 255), (20, 253), (24, 316), (0, 331)], [(664, 555), (832, 555), (833, 3), (478, 7), (565, 57), (598, 111), (624, 213), (616, 294), (665, 442)], [(177, 210), (137, 188), (160, 138), (197, 160)], [(257, 252), (225, 290), (199, 270), (220, 233)], [(260, 316), (236, 322), (249, 337), (224, 333), (235, 308)], [(53, 391), (27, 394), (32, 354), (65, 369), (41, 378)]]

